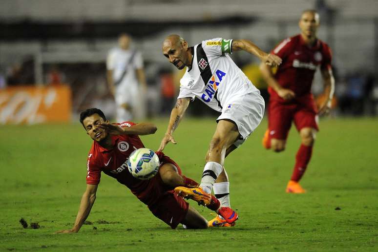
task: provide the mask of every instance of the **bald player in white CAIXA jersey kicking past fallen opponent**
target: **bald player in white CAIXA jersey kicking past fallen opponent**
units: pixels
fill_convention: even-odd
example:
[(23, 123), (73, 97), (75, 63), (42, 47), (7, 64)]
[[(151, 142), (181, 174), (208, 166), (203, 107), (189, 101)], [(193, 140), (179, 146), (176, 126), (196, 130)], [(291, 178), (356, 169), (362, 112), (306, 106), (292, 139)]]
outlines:
[[(264, 99), (260, 91), (232, 61), (230, 54), (244, 50), (257, 56), (263, 63), (279, 65), (278, 56), (260, 50), (248, 40), (225, 40), (216, 38), (189, 46), (178, 35), (170, 35), (163, 42), (163, 54), (178, 69), (187, 67), (180, 80), (180, 93), (173, 107), (167, 131), (159, 151), (169, 143), (176, 144), (172, 134), (179, 125), (189, 102), (198, 98), (212, 109), (221, 112), (206, 154), (202, 172), (201, 192), (183, 188), (184, 195), (195, 193), (215, 196), (224, 207), (230, 207), (230, 183), (224, 168), (224, 159), (242, 145), (264, 115)], [(180, 192), (180, 191), (179, 191)], [(233, 216), (237, 219), (237, 213)], [(227, 220), (226, 220), (227, 221)], [(209, 221), (209, 227), (230, 227), (235, 223), (225, 222), (218, 214)]]

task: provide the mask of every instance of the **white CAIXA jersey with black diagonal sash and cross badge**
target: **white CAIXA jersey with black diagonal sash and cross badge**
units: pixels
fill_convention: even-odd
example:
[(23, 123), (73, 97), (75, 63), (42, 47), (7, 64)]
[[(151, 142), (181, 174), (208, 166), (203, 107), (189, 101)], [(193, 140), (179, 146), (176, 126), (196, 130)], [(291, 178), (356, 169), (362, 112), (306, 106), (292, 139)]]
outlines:
[(222, 108), (236, 97), (259, 92), (229, 54), (232, 40), (206, 40), (191, 47), (191, 68), (180, 80), (179, 98), (197, 97), (212, 109)]

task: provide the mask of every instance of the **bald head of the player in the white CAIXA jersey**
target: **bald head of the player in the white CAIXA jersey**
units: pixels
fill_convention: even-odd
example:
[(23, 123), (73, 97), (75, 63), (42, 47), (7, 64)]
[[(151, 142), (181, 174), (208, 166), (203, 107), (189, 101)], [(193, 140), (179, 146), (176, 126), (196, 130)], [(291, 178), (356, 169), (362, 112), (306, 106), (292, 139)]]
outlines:
[(174, 64), (178, 69), (183, 69), (191, 64), (191, 55), (188, 42), (179, 35), (169, 35), (163, 42), (162, 51), (170, 63)]

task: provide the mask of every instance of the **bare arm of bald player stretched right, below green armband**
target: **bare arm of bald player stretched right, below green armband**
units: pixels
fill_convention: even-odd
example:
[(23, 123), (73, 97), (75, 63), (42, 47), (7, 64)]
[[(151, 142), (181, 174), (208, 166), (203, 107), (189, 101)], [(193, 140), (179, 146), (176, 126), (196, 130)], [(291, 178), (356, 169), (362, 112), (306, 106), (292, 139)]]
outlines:
[(249, 52), (250, 54), (257, 56), (263, 63), (267, 65), (277, 66), (282, 62), (280, 57), (264, 52), (249, 40), (233, 40), (231, 48), (232, 51), (243, 50)]

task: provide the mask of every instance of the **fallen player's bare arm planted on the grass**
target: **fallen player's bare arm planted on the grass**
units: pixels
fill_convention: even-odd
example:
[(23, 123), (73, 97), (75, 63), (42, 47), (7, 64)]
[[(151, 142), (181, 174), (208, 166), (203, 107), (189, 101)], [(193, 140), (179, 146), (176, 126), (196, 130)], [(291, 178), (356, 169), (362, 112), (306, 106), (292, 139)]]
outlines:
[(82, 201), (80, 202), (78, 215), (76, 216), (73, 228), (57, 231), (57, 233), (76, 233), (80, 230), (95, 202), (97, 187), (98, 185), (86, 185), (86, 190), (83, 194)]

